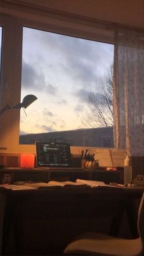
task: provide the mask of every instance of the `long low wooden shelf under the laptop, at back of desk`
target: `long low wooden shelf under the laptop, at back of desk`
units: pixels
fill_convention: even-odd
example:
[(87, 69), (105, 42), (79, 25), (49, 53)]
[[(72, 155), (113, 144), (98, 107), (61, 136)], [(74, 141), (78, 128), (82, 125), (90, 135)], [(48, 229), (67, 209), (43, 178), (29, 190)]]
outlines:
[(104, 181), (105, 183), (123, 183), (123, 170), (83, 170), (81, 168), (21, 169), (16, 167), (0, 170), (0, 183), (7, 183), (7, 180), (9, 181), (9, 179), (11, 179), (11, 182), (13, 183), (15, 181), (29, 180), (48, 182), (49, 180), (60, 179), (75, 181), (77, 178), (82, 178), (84, 180), (99, 180)]

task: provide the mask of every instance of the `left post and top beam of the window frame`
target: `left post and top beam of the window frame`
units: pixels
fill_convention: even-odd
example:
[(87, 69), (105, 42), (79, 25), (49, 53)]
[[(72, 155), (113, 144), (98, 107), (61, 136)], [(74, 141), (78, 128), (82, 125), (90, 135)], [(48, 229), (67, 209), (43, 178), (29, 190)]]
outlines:
[[(41, 11), (42, 12), (42, 11)], [(2, 53), (1, 53), (1, 94), (0, 108), (10, 102), (12, 106), (21, 100), (21, 66), (23, 47), (23, 27), (40, 29), (57, 34), (85, 38), (97, 42), (113, 43), (114, 31), (112, 27), (96, 27), (96, 22), (87, 18), (74, 18), (71, 16), (45, 17), (39, 21), (32, 17), (31, 20), (21, 19), (19, 16), (1, 13), (0, 26), (2, 26)], [(77, 24), (76, 24), (77, 23)], [(106, 25), (106, 24), (105, 24)], [(34, 152), (34, 145), (19, 144), (20, 136), (20, 110), (10, 109), (0, 117), (0, 152)]]

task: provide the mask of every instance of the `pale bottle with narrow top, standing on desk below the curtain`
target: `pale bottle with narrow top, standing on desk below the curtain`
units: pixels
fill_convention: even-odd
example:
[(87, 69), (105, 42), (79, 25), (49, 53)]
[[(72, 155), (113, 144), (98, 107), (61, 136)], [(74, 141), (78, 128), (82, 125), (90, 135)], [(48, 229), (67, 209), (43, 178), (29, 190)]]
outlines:
[(132, 166), (131, 166), (131, 158), (126, 155), (124, 159), (124, 185), (131, 183), (132, 181)]

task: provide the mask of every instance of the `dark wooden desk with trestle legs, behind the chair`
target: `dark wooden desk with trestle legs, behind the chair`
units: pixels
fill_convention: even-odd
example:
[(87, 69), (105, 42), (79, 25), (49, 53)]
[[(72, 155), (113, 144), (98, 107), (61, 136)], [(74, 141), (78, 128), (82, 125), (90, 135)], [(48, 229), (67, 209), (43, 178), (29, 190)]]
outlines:
[[(124, 209), (128, 218), (133, 216), (129, 224), (136, 237), (134, 201), (142, 197), (142, 192), (107, 187), (1, 190), (5, 196), (2, 254), (12, 254), (9, 249), (12, 227), (16, 255), (60, 255), (79, 233), (106, 232), (108, 218), (108, 233), (117, 235)], [(131, 213), (127, 211), (129, 207)]]

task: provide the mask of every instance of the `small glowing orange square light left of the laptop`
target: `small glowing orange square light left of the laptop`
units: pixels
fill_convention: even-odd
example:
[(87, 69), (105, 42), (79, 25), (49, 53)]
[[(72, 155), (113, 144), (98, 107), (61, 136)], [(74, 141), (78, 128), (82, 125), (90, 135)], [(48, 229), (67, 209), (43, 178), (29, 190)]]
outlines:
[(34, 154), (21, 154), (20, 167), (34, 168), (35, 156)]

